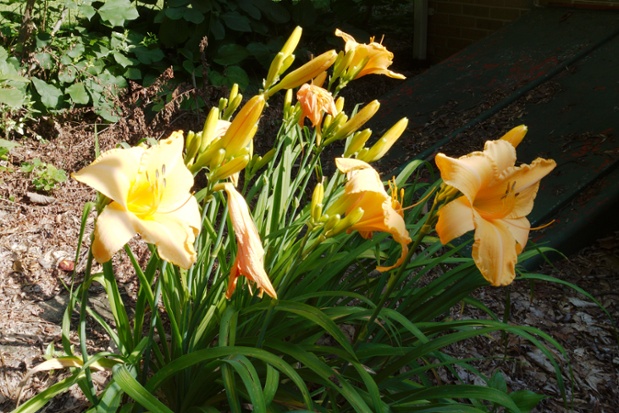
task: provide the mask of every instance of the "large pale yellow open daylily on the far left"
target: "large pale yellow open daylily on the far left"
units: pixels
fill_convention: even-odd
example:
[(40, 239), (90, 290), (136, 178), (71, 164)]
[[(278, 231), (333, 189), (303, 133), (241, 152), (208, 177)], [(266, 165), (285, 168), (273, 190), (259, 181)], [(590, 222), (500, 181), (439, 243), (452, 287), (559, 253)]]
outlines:
[(196, 261), (193, 243), (202, 219), (183, 162), (182, 132), (150, 148), (112, 149), (72, 176), (112, 200), (95, 224), (98, 262), (109, 261), (136, 233), (166, 261), (182, 268)]

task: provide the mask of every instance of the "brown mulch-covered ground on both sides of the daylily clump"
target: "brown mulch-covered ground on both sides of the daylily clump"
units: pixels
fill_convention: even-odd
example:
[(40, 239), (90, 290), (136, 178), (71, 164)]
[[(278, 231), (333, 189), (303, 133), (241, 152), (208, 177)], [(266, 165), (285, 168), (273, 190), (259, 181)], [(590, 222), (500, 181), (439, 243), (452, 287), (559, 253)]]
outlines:
[[(418, 69), (408, 67), (406, 74)], [(171, 75), (168, 73), (168, 75)], [(359, 88), (380, 96), (397, 82), (374, 78)], [(144, 136), (159, 138), (175, 129), (199, 130), (203, 115), (177, 110), (170, 105), (155, 119), (146, 119), (134, 104), (136, 93), (148, 99), (156, 91), (133, 90), (120, 104), (124, 119), (116, 125), (97, 125), (88, 113), (72, 113), (64, 118), (44, 118), (33, 126), (44, 139), (24, 138), (11, 152), (0, 170), (0, 411), (15, 407), (20, 382), (27, 370), (44, 360), (48, 346), (59, 347), (61, 318), (67, 299), (72, 266), (83, 266), (84, 251), (75, 262), (76, 243), (83, 205), (93, 200), (89, 188), (68, 179), (58, 185), (48, 198), (40, 198), (22, 162), (40, 158), (67, 172), (80, 169), (94, 159), (94, 139), (102, 150), (119, 142), (135, 143)], [(220, 90), (202, 91), (212, 101)], [(359, 97), (359, 96), (357, 96)], [(352, 96), (351, 98), (354, 98)], [(273, 105), (275, 106), (275, 105)], [(275, 109), (273, 109), (275, 110)], [(271, 115), (275, 119), (276, 114)], [(500, 120), (496, 120), (501, 124)], [(262, 123), (260, 147), (268, 147), (269, 117)], [(419, 137), (416, 137), (419, 142)], [(430, 137), (427, 137), (430, 139)], [(406, 145), (402, 145), (407, 148)], [(473, 148), (478, 149), (478, 148)], [(397, 149), (396, 149), (397, 150)], [(412, 148), (411, 148), (412, 150)], [(419, 150), (419, 148), (414, 148)], [(411, 157), (414, 153), (411, 153)], [(92, 224), (92, 217), (89, 218)], [(88, 238), (88, 235), (86, 239)], [(541, 270), (561, 280), (575, 283), (601, 302), (605, 313), (591, 299), (568, 287), (549, 283), (515, 283), (508, 289), (484, 288), (477, 298), (502, 314), (509, 293), (510, 321), (542, 329), (551, 334), (566, 350), (560, 357), (566, 380), (568, 405), (565, 406), (552, 366), (530, 344), (510, 338), (483, 337), (452, 348), (460, 357), (479, 358), (485, 374), (502, 371), (511, 389), (528, 388), (548, 396), (537, 412), (616, 412), (619, 406), (619, 349), (617, 329), (609, 315), (619, 319), (619, 234), (609, 233), (593, 245)], [(126, 287), (134, 280), (128, 278)], [(454, 317), (476, 316), (464, 308), (454, 310)], [(89, 343), (105, 346), (105, 337)], [(570, 370), (571, 368), (571, 370)], [(570, 372), (572, 379), (570, 379)], [(57, 380), (55, 374), (37, 374), (23, 383), (23, 398), (29, 398)], [(449, 380), (449, 378), (445, 378)], [(47, 411), (84, 410), (75, 394), (60, 397)]]

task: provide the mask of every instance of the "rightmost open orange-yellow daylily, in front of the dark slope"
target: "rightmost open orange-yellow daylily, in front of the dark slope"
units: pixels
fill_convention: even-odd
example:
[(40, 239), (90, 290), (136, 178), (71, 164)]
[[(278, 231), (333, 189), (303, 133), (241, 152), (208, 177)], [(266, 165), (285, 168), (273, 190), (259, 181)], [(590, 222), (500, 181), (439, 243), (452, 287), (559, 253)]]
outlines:
[(436, 231), (443, 244), (475, 230), (473, 260), (493, 286), (510, 284), (525, 247), (540, 180), (556, 166), (552, 159), (538, 158), (516, 167), (516, 149), (526, 127), (504, 138), (487, 141), (483, 152), (458, 159), (442, 153), (435, 161), (443, 181), (462, 194), (438, 211)]

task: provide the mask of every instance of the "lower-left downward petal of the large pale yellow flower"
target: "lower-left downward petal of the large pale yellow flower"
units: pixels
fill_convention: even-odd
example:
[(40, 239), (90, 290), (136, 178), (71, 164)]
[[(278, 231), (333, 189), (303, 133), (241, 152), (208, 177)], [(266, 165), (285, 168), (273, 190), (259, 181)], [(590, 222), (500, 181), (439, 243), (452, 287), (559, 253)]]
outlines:
[(92, 254), (99, 263), (109, 261), (137, 232), (138, 219), (122, 205), (111, 202), (97, 218)]

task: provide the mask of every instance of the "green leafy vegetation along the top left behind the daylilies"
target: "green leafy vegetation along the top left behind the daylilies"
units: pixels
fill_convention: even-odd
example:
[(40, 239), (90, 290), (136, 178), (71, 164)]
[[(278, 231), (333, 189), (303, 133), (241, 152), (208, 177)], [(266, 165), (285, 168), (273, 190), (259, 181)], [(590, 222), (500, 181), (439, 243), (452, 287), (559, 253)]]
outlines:
[[(0, 125), (23, 133), (36, 114), (92, 108), (119, 119), (130, 81), (152, 84), (172, 67), (176, 82), (241, 88), (258, 80), (292, 27), (309, 45), (336, 26), (380, 29), (409, 4), (368, 0), (3, 0), (0, 4)], [(380, 15), (380, 13), (379, 13)], [(355, 29), (356, 28), (356, 29)], [(393, 30), (393, 27), (392, 29)], [(307, 46), (306, 46), (307, 47)], [(309, 58), (311, 50), (306, 50)], [(160, 108), (163, 103), (154, 106)]]

